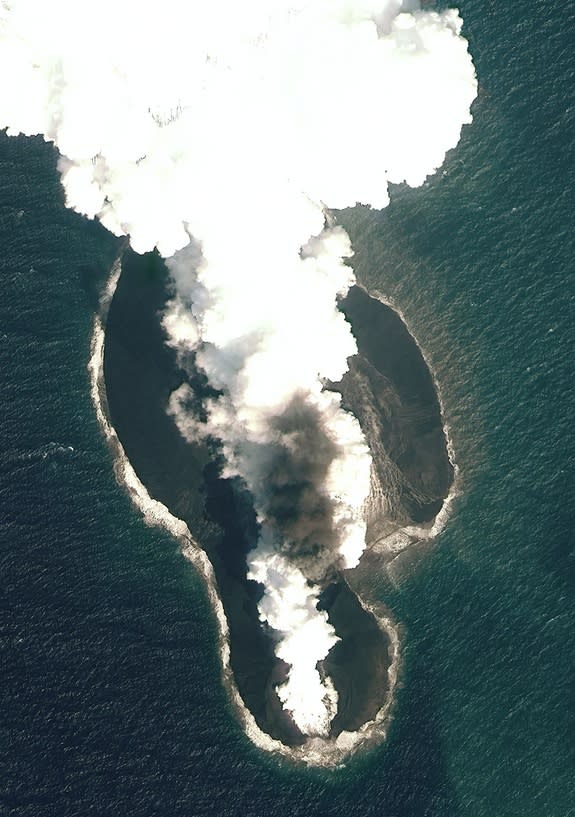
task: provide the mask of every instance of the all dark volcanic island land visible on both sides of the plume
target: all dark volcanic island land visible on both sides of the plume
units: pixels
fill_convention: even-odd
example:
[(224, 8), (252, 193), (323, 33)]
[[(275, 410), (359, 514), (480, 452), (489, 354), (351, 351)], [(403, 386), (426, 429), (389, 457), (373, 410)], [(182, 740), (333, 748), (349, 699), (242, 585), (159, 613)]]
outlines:
[[(217, 451), (186, 442), (166, 412), (172, 391), (184, 379), (190, 382), (164, 343), (159, 316), (167, 283), (161, 259), (126, 252), (106, 326), (111, 420), (150, 495), (187, 523), (214, 566), (230, 628), (231, 666), (245, 704), (261, 729), (297, 745), (304, 737), (275, 692), (287, 667), (259, 622), (261, 589), (246, 579), (246, 554), (257, 539), (250, 497), (239, 480), (220, 479)], [(453, 476), (428, 368), (392, 309), (359, 287), (350, 290), (341, 309), (359, 354), (341, 383), (330, 387), (360, 420), (380, 483), (390, 496), (397, 494), (386, 508), (392, 522), (427, 521), (441, 507)], [(191, 385), (197, 393), (209, 390), (198, 373)], [(324, 590), (322, 605), (341, 638), (324, 661), (339, 694), (332, 726), (337, 735), (360, 727), (385, 702), (388, 638), (343, 579)]]

